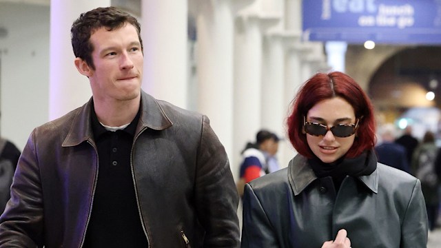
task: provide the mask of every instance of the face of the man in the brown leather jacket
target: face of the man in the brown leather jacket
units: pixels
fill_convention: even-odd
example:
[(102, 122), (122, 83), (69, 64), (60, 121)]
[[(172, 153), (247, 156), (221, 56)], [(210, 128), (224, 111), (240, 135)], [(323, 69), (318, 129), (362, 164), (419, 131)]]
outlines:
[[(143, 53), (136, 28), (125, 24), (108, 31), (99, 28), (90, 36), (95, 70), (87, 66), (94, 101), (109, 103), (136, 99), (141, 92)], [(78, 65), (77, 65), (78, 66)]]

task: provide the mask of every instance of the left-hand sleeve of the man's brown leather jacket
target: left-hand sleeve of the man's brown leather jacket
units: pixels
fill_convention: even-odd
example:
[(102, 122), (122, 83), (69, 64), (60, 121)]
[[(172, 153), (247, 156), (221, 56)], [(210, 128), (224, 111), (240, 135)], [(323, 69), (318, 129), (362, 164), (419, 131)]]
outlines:
[(35, 131), (17, 163), (11, 198), (0, 217), (0, 247), (42, 247), (43, 203)]

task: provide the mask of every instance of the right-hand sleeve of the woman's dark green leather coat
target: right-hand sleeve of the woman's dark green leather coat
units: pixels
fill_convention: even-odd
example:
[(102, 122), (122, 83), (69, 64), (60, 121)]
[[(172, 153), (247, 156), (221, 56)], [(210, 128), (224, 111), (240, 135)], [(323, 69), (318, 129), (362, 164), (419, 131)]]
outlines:
[(427, 211), (420, 180), (416, 180), (401, 231), (401, 248), (427, 247)]

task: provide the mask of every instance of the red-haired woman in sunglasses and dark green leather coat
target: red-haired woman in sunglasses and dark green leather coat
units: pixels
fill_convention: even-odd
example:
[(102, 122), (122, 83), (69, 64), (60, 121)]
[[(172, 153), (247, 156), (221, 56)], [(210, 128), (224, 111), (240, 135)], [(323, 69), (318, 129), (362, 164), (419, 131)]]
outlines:
[(420, 181), (377, 163), (373, 107), (353, 79), (314, 75), (287, 126), (298, 155), (245, 185), (242, 247), (426, 247)]

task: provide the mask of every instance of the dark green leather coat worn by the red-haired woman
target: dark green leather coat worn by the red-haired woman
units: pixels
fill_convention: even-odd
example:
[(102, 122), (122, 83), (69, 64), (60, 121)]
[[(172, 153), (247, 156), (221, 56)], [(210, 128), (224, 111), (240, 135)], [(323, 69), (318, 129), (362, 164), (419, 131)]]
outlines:
[(320, 248), (346, 229), (354, 248), (425, 248), (427, 228), (420, 180), (381, 163), (338, 192), (300, 155), (245, 185), (242, 247)]

